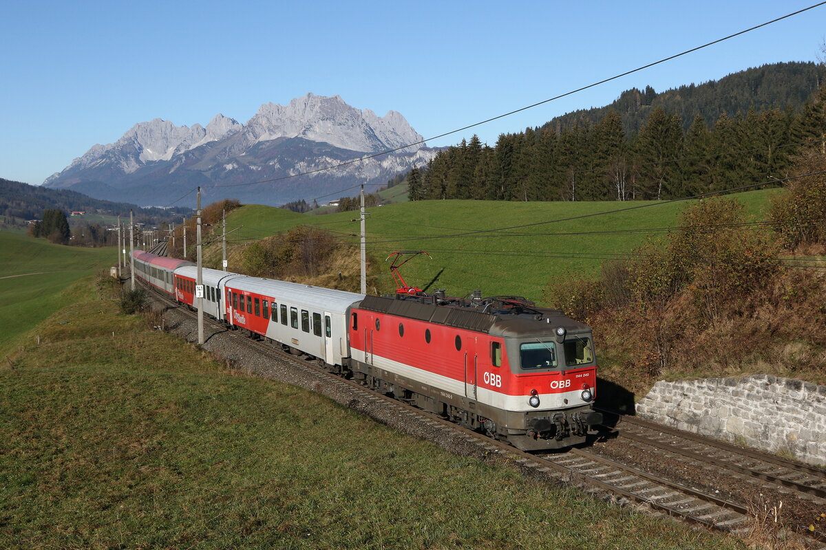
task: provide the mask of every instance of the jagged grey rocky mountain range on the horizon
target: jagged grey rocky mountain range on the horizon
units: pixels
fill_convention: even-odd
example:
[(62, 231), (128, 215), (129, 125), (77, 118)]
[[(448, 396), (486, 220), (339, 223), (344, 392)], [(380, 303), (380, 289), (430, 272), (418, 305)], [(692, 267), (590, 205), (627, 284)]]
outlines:
[[(224, 115), (216, 115), (206, 128), (161, 119), (140, 122), (115, 143), (94, 145), (43, 185), (157, 206), (196, 186), (202, 186), (205, 204), (235, 198), (278, 205), (329, 193), (323, 200), (332, 200), (339, 197), (336, 191), (384, 183), (425, 164), (436, 151), (421, 140), (396, 111), (377, 116), (339, 96), (307, 94), (287, 106), (264, 104), (246, 124)], [(409, 143), (415, 144), (402, 148)], [(314, 172), (396, 148), (401, 149)], [(306, 172), (312, 173), (298, 176)], [(278, 181), (241, 185), (273, 179)], [(194, 195), (176, 204), (192, 206)]]

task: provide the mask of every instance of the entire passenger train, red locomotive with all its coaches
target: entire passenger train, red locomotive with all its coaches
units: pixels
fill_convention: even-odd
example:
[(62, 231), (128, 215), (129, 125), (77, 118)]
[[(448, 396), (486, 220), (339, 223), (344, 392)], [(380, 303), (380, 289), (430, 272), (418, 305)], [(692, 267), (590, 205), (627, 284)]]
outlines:
[[(192, 262), (140, 250), (132, 261), (140, 280), (197, 305)], [(369, 296), (207, 268), (202, 284), (204, 312), (230, 330), (519, 449), (583, 443), (602, 421), (591, 328), (520, 296)]]

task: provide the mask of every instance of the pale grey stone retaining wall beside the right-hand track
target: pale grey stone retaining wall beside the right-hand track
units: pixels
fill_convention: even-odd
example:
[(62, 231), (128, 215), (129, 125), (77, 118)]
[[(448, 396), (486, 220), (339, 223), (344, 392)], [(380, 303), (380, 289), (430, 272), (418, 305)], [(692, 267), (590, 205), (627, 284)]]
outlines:
[(757, 374), (657, 382), (638, 416), (730, 443), (826, 464), (826, 386)]

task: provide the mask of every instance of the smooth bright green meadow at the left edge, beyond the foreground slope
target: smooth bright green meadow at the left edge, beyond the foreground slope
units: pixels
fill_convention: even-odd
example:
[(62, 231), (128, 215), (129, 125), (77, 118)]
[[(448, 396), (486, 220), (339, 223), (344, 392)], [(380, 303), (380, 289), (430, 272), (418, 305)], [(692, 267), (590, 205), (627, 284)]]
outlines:
[(116, 258), (113, 247), (62, 247), (0, 231), (0, 355), (7, 354), (23, 332), (77, 299), (70, 284), (116, 265)]

